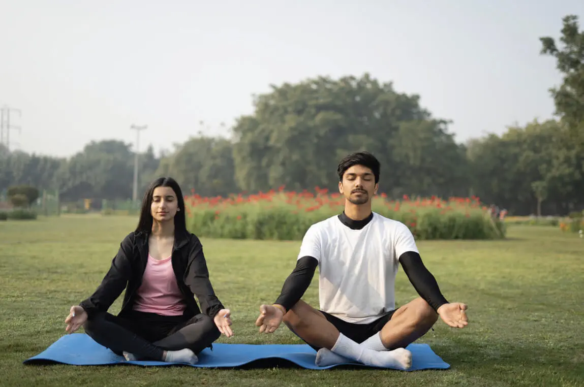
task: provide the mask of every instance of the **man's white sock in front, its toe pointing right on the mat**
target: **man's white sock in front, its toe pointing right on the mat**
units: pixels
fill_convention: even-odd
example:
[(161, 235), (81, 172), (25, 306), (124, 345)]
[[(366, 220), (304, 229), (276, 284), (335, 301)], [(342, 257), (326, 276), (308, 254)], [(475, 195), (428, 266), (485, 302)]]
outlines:
[(342, 333), (331, 351), (371, 367), (408, 369), (412, 366), (412, 353), (404, 348), (374, 351), (360, 346)]

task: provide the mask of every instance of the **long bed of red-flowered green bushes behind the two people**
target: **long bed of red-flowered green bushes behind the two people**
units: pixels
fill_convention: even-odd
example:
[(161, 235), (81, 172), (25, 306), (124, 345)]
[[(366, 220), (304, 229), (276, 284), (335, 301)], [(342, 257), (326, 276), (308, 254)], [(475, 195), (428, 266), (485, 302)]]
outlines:
[[(186, 197), (187, 225), (199, 236), (301, 240), (314, 223), (343, 211), (339, 194), (270, 193), (230, 198)], [(376, 197), (373, 211), (403, 222), (416, 239), (505, 238), (502, 221), (491, 218), (478, 198)]]

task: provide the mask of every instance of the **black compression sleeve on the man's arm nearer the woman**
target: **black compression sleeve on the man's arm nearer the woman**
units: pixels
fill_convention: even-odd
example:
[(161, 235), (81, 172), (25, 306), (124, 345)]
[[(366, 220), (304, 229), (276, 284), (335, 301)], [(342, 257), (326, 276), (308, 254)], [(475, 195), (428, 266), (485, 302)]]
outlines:
[(286, 311), (296, 305), (308, 289), (308, 286), (310, 286), (317, 266), (318, 260), (315, 257), (305, 256), (297, 260), (296, 268), (284, 281), (280, 296), (274, 304), (284, 306)]

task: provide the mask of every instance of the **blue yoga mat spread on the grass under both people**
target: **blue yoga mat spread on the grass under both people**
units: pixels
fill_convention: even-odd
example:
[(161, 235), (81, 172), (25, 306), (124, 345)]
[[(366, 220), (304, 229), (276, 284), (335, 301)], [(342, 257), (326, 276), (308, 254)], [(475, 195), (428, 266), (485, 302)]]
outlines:
[[(448, 369), (450, 365), (432, 351), (427, 344), (410, 344), (412, 368)], [(24, 364), (70, 364), (70, 365), (113, 365), (133, 364), (142, 366), (190, 365), (199, 368), (234, 368), (244, 365), (254, 367), (275, 367), (290, 365), (290, 362), (307, 369), (327, 369), (338, 365), (368, 367), (359, 363), (342, 363), (329, 367), (314, 364), (316, 351), (307, 344), (213, 344), (213, 350), (206, 348), (199, 354), (197, 364), (171, 363), (164, 361), (126, 361), (106, 347), (96, 343), (85, 333), (62, 336), (46, 350), (24, 361)], [(284, 360), (284, 361), (282, 361)], [(286, 364), (288, 362), (288, 364)]]

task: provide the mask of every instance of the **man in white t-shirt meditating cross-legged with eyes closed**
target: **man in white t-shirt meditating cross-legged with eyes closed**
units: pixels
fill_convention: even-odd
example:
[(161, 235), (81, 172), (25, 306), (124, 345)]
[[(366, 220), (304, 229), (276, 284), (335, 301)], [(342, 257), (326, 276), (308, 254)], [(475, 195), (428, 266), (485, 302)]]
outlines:
[[(446, 301), (409, 229), (371, 211), (379, 172), (380, 163), (367, 152), (340, 161), (345, 211), (308, 229), (280, 297), (273, 305), (260, 306), (259, 331), (273, 333), (284, 321), (318, 351), (318, 366), (357, 361), (408, 369), (412, 354), (405, 347), (423, 336), (438, 316), (451, 327), (468, 324), (467, 305)], [(399, 264), (420, 297), (395, 309)], [(301, 301), (317, 266), (318, 311)]]

